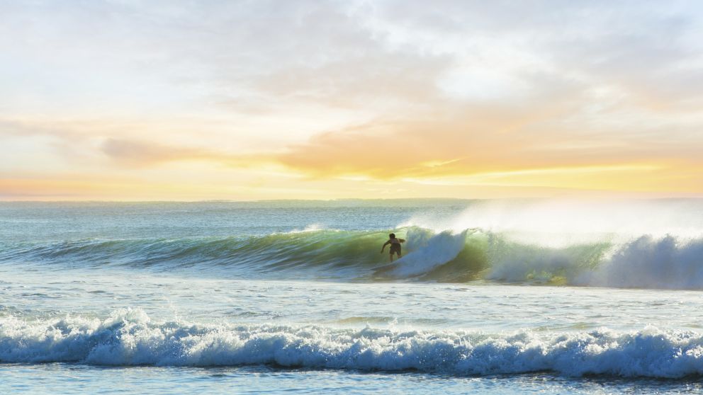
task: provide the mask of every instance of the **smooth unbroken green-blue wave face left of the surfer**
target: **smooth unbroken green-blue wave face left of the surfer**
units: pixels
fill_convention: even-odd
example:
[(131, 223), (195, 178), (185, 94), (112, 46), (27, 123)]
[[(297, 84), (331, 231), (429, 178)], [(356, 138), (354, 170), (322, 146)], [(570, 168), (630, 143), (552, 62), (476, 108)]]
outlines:
[[(89, 239), (0, 245), (0, 262), (153, 269), (197, 267), (236, 273), (281, 273), (309, 268), (344, 275), (345, 268), (379, 263), (387, 232), (304, 229), (266, 236), (192, 239)], [(300, 273), (302, 274), (302, 273)]]

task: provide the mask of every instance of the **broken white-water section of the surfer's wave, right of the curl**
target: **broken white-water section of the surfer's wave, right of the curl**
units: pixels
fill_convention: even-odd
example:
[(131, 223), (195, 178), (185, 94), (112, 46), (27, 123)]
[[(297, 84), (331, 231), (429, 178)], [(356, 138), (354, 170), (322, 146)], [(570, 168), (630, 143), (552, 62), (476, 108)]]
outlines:
[(641, 236), (609, 248), (598, 245), (541, 248), (489, 244), (486, 280), (549, 281), (570, 285), (703, 289), (703, 239)]

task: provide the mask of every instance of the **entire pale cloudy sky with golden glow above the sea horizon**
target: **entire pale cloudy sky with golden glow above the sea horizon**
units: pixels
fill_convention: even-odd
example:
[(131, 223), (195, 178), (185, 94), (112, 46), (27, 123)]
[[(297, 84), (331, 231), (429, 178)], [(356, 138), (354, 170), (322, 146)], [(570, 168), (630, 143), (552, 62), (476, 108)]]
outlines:
[(703, 197), (700, 1), (0, 0), (0, 200)]

